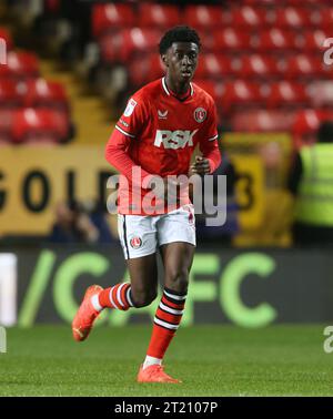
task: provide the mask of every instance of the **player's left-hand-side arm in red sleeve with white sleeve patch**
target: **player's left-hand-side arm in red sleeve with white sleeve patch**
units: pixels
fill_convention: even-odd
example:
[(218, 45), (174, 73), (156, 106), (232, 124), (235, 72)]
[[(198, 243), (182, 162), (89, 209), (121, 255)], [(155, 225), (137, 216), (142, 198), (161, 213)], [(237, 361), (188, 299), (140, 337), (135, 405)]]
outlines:
[[(132, 170), (134, 166), (138, 166), (138, 164), (131, 159), (128, 150), (132, 141), (139, 141), (137, 133), (140, 133), (145, 117), (144, 106), (140, 103), (138, 104), (133, 99), (130, 99), (105, 147), (107, 161), (133, 184), (138, 181), (138, 186), (142, 186), (140, 180), (132, 178)], [(147, 176), (152, 175), (141, 167), (141, 181)]]

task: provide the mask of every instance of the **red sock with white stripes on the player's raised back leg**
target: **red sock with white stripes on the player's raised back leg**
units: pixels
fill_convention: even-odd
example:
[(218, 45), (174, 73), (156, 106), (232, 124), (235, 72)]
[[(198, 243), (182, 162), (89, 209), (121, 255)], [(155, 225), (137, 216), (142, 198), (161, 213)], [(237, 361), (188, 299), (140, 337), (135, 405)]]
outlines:
[(131, 297), (131, 284), (117, 284), (113, 287), (103, 289), (99, 294), (99, 303), (104, 307), (118, 308), (120, 310), (128, 310), (133, 307)]

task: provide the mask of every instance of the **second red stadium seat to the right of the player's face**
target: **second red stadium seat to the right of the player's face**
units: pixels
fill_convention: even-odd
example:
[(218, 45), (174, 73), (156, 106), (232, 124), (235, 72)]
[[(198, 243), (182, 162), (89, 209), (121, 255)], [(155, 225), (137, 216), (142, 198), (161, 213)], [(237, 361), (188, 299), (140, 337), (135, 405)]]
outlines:
[(276, 59), (260, 54), (241, 57), (235, 70), (241, 79), (274, 78), (281, 72)]

